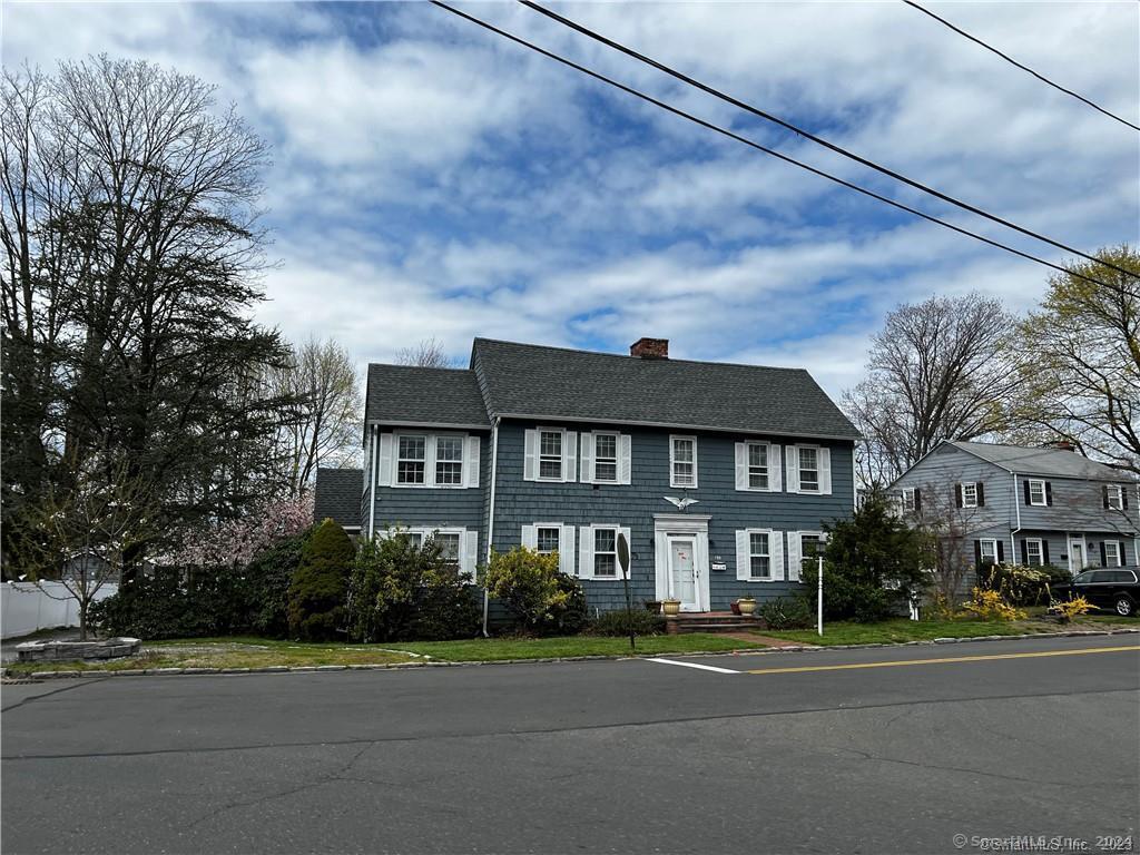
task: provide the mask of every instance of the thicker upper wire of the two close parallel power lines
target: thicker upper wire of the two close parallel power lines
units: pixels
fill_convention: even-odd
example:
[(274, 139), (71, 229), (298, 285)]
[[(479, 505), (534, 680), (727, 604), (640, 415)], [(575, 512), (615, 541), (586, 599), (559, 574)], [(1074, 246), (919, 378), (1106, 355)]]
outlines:
[(1002, 226), (1005, 226), (1007, 228), (1011, 228), (1015, 231), (1020, 231), (1023, 235), (1027, 235), (1028, 237), (1033, 237), (1033, 238), (1035, 238), (1037, 241), (1041, 241), (1043, 243), (1047, 243), (1047, 244), (1050, 244), (1052, 246), (1056, 246), (1058, 250), (1064, 250), (1065, 252), (1072, 253), (1074, 255), (1080, 255), (1081, 258), (1088, 259), (1089, 261), (1094, 261), (1098, 264), (1104, 264), (1105, 267), (1112, 268), (1112, 269), (1116, 270), (1117, 272), (1122, 272), (1122, 274), (1125, 274), (1125, 275), (1134, 277), (1134, 278), (1140, 278), (1140, 275), (1138, 275), (1138, 274), (1135, 274), (1135, 272), (1133, 272), (1131, 270), (1127, 270), (1127, 269), (1122, 268), (1122, 267), (1117, 267), (1116, 264), (1113, 264), (1110, 262), (1107, 262), (1107, 261), (1104, 261), (1101, 259), (1098, 259), (1096, 255), (1090, 255), (1089, 253), (1081, 252), (1080, 250), (1076, 250), (1076, 249), (1074, 249), (1072, 246), (1068, 246), (1067, 244), (1062, 244), (1059, 241), (1053, 241), (1051, 237), (1045, 237), (1044, 235), (1037, 234), (1036, 231), (1032, 231), (1031, 229), (1024, 228), (1023, 226), (1018, 226), (1016, 222), (1010, 222), (1009, 220), (1002, 219), (1001, 217), (997, 217), (996, 214), (992, 214), (988, 211), (983, 211), (980, 207), (976, 207), (975, 205), (971, 205), (968, 202), (962, 202), (961, 199), (954, 198), (953, 196), (948, 196), (947, 194), (942, 193), (940, 190), (936, 190), (933, 187), (928, 187), (925, 184), (921, 184), (921, 182), (915, 181), (915, 180), (913, 180), (911, 178), (907, 178), (906, 176), (901, 174), (898, 172), (895, 172), (894, 170), (888, 169), (887, 166), (880, 166), (878, 163), (874, 163), (873, 161), (870, 161), (866, 157), (857, 155), (854, 152), (848, 152), (846, 148), (844, 148), (841, 146), (838, 146), (834, 142), (830, 142), (830, 141), (823, 139), (822, 137), (817, 137), (814, 133), (812, 133), (811, 131), (804, 130), (803, 128), (799, 128), (799, 127), (792, 124), (791, 122), (788, 122), (788, 121), (785, 121), (783, 119), (780, 119), (779, 116), (774, 116), (771, 113), (766, 113), (765, 111), (760, 109), (759, 107), (754, 107), (751, 104), (746, 104), (744, 101), (740, 100), (739, 98), (734, 98), (731, 95), (722, 92), (718, 89), (714, 89), (712, 87), (708, 85), (707, 83), (702, 83), (699, 80), (694, 80), (693, 78), (690, 78), (687, 74), (683, 74), (682, 72), (678, 72), (676, 68), (671, 68), (668, 65), (665, 65), (665, 64), (659, 63), (658, 60), (656, 60), (656, 59), (653, 59), (651, 57), (645, 56), (644, 54), (637, 52), (633, 48), (626, 47), (625, 44), (621, 44), (620, 42), (616, 42), (612, 39), (609, 39), (609, 38), (604, 36), (604, 35), (602, 35), (601, 33), (596, 33), (593, 30), (589, 30), (588, 27), (585, 27), (585, 26), (583, 26), (581, 24), (579, 24), (579, 23), (577, 23), (575, 21), (571, 21), (570, 18), (563, 17), (562, 15), (559, 15), (555, 11), (551, 11), (549, 9), (546, 9), (546, 8), (542, 7), (542, 6), (539, 6), (538, 3), (534, 2), (532, 0), (519, 0), (519, 1), (523, 6), (527, 6), (528, 8), (534, 9), (535, 11), (545, 15), (546, 17), (548, 17), (548, 18), (551, 18), (553, 21), (556, 21), (557, 23), (560, 23), (560, 24), (562, 24), (564, 26), (568, 26), (571, 30), (575, 30), (575, 31), (581, 33), (583, 35), (589, 36), (594, 41), (598, 41), (602, 44), (605, 44), (606, 47), (613, 48), (614, 50), (618, 50), (618, 51), (625, 54), (626, 56), (630, 56), (634, 59), (637, 59), (637, 60), (640, 60), (642, 63), (645, 63), (646, 65), (652, 66), (653, 68), (657, 68), (658, 71), (665, 72), (666, 74), (668, 74), (668, 75), (670, 75), (673, 78), (676, 78), (677, 80), (683, 81), (683, 82), (687, 83), (689, 85), (695, 87), (697, 89), (700, 89), (702, 92), (708, 92), (709, 95), (715, 96), (716, 98), (719, 98), (720, 100), (726, 101), (726, 103), (733, 105), (734, 107), (739, 107), (740, 109), (747, 111), (747, 112), (751, 113), (752, 115), (759, 116), (760, 119), (767, 120), (769, 122), (774, 122), (775, 124), (779, 124), (782, 128), (785, 128), (785, 129), (788, 129), (790, 131), (793, 131), (793, 132), (800, 135), (805, 139), (809, 139), (813, 142), (815, 142), (817, 145), (821, 145), (824, 148), (828, 148), (828, 149), (834, 152), (836, 154), (840, 154), (844, 157), (847, 157), (848, 160), (855, 161), (856, 163), (860, 163), (860, 164), (862, 164), (864, 166), (869, 166), (870, 169), (873, 169), (877, 172), (881, 172), (885, 176), (894, 178), (896, 181), (902, 181), (903, 184), (909, 185), (909, 186), (911, 186), (911, 187), (913, 187), (915, 189), (922, 190), (923, 193), (927, 193), (927, 194), (929, 194), (931, 196), (935, 196), (936, 198), (939, 198), (943, 202), (948, 202), (950, 204), (955, 205), (958, 207), (961, 207), (964, 211), (969, 211), (970, 213), (977, 214), (979, 217), (984, 217), (987, 220), (992, 220), (993, 222), (996, 222), (996, 223), (1000, 223)]

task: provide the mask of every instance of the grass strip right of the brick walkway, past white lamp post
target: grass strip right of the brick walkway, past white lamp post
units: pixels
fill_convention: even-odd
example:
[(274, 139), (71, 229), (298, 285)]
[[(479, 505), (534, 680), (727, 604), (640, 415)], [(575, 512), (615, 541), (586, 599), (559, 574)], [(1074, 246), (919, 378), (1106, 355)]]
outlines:
[(910, 641), (934, 638), (976, 638), (979, 635), (1021, 635), (1024, 633), (1057, 633), (1066, 629), (1140, 629), (1140, 621), (1112, 616), (1086, 616), (1077, 618), (1068, 626), (1044, 621), (1031, 616), (1026, 620), (907, 620), (897, 618), (878, 624), (855, 624), (836, 621), (823, 625), (823, 637), (814, 629), (789, 629), (768, 632), (773, 638), (787, 638), (804, 644), (898, 644)]

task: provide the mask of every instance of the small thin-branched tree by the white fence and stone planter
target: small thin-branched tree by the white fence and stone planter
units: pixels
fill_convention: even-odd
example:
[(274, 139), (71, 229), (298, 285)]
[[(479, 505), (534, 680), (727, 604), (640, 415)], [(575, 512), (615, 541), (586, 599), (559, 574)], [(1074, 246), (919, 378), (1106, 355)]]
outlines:
[(36, 548), (25, 567), (46, 595), (43, 581), (58, 577), (79, 604), (80, 640), (99, 592), (122, 578), (123, 560), (161, 524), (149, 484), (127, 465), (90, 466), (67, 488), (49, 484), (26, 508), (24, 522)]

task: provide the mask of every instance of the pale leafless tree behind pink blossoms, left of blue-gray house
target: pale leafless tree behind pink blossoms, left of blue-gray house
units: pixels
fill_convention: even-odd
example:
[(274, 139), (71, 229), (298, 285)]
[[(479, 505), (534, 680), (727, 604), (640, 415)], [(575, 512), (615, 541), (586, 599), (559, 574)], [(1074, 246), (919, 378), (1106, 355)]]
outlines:
[(356, 366), (332, 339), (309, 339), (293, 348), (287, 365), (275, 369), (279, 398), (296, 401), (280, 438), (290, 490), (306, 492), (321, 464), (348, 465), (359, 454), (360, 382)]

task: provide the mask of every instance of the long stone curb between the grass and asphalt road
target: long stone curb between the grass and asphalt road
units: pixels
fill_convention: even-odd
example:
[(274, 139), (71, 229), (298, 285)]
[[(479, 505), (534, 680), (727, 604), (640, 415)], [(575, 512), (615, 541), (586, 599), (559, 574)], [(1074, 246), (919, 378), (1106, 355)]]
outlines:
[(671, 657), (689, 659), (693, 657), (734, 657), (734, 656), (772, 656), (773, 653), (816, 653), (829, 650), (873, 650), (876, 648), (917, 648), (935, 644), (967, 644), (969, 642), (1025, 641), (1026, 638), (1076, 638), (1101, 635), (1138, 635), (1140, 629), (1072, 629), (1064, 633), (1021, 633), (1018, 635), (976, 635), (970, 638), (933, 638), (911, 642), (879, 642), (876, 644), (799, 644), (788, 648), (741, 648), (740, 650), (689, 651), (685, 653), (624, 653), (585, 657), (544, 657), (542, 659), (491, 659), (477, 662), (451, 662), (442, 660), (423, 660), (416, 662), (389, 662), (376, 665), (267, 665), (261, 668), (128, 668), (124, 670), (89, 670), (89, 671), (33, 671), (32, 674), (11, 673), (5, 668), (0, 671), (3, 679), (27, 681), (66, 679), (74, 677), (173, 677), (201, 675), (249, 675), (249, 674), (325, 674), (328, 671), (386, 671), (408, 668), (466, 668), (482, 665), (545, 665), (551, 662), (600, 662), (620, 661), (622, 659), (650, 659)]

